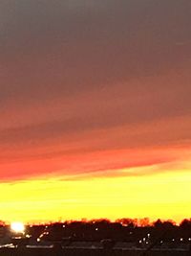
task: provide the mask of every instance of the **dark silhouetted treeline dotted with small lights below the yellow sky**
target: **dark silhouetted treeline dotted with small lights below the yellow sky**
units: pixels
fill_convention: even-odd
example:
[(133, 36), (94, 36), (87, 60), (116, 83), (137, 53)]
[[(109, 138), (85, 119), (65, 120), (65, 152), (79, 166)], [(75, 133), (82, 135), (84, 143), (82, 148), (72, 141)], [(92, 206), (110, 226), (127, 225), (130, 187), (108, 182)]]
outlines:
[(115, 242), (191, 243), (191, 219), (177, 225), (174, 221), (148, 219), (120, 219), (115, 222), (101, 219), (92, 221), (58, 221), (49, 224), (29, 225), (26, 232), (41, 241), (100, 241), (111, 239)]

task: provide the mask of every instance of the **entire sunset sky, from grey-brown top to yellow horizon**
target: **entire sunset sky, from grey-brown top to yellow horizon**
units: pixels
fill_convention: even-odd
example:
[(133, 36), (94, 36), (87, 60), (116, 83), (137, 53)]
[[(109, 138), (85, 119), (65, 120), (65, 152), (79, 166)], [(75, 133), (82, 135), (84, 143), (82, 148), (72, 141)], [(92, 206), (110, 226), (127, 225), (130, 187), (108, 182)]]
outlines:
[(0, 1), (0, 220), (191, 217), (190, 0)]

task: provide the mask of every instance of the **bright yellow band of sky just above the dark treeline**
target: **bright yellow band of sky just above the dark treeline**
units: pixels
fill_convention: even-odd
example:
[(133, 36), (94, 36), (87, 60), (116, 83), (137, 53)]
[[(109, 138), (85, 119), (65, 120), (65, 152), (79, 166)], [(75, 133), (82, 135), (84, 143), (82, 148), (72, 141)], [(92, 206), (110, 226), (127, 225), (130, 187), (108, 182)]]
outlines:
[[(144, 168), (132, 172), (144, 174)], [(147, 170), (148, 171), (148, 170)], [(150, 168), (152, 171), (152, 167)], [(121, 170), (121, 174), (127, 170)], [(128, 171), (129, 172), (129, 171)], [(58, 221), (144, 218), (180, 221), (191, 216), (190, 171), (0, 184), (1, 219)]]

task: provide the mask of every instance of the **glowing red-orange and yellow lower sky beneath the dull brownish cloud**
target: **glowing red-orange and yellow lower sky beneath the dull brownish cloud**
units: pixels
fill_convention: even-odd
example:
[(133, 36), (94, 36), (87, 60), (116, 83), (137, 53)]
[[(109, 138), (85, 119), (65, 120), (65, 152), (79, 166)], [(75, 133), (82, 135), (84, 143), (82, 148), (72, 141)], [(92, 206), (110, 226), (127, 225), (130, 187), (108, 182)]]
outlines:
[[(71, 157), (67, 164), (60, 157), (5, 165), (7, 172), (11, 168), (29, 174), (35, 168), (37, 172), (27, 179), (23, 176), (15, 180), (14, 176), (14, 180), (0, 184), (1, 219), (149, 217), (152, 221), (180, 221), (190, 217), (191, 149), (187, 146), (94, 152), (78, 157)], [(54, 170), (56, 165), (64, 167)], [(40, 172), (43, 168), (46, 172)]]

